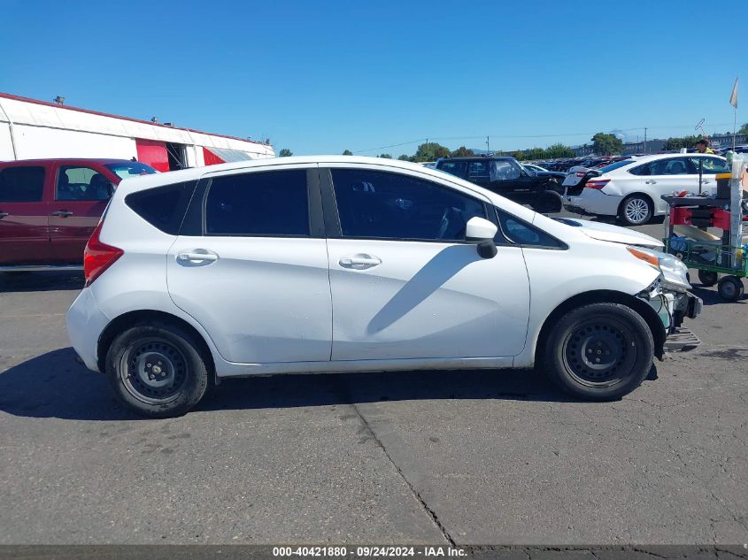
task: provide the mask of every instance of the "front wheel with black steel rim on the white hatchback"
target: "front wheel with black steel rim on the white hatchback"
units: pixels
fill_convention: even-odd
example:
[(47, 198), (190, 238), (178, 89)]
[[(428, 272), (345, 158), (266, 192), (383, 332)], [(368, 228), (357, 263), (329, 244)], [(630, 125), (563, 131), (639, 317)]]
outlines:
[(609, 401), (639, 387), (653, 358), (652, 331), (641, 315), (620, 303), (590, 303), (551, 328), (544, 365), (569, 395)]

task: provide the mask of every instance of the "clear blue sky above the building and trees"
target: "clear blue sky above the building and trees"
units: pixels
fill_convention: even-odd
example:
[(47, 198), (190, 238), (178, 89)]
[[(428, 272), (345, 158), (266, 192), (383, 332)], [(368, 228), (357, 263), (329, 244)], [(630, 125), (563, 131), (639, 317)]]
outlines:
[(0, 91), (297, 155), (636, 140), (702, 118), (724, 132), (736, 75), (748, 95), (744, 0), (0, 0), (0, 14)]

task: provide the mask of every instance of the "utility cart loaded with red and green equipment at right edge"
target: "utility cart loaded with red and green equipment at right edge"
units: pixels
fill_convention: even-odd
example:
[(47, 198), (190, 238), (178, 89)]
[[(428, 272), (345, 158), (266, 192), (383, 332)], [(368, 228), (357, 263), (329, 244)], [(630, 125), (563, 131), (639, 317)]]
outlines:
[[(743, 216), (739, 180), (743, 166), (736, 164), (736, 173), (717, 175), (715, 198), (661, 196), (670, 206), (663, 240), (666, 251), (697, 269), (698, 280), (705, 286), (717, 284), (717, 292), (729, 302), (743, 297), (742, 279), (748, 276), (748, 243), (743, 240), (748, 221)], [(709, 234), (707, 227), (721, 229), (721, 236)]]

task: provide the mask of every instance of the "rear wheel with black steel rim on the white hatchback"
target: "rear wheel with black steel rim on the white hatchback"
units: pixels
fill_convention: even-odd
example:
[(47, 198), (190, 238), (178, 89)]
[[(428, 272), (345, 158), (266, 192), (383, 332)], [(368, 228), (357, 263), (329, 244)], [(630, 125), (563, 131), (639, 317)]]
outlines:
[(199, 348), (179, 326), (143, 323), (112, 341), (106, 373), (127, 408), (149, 418), (181, 416), (208, 387), (208, 367)]

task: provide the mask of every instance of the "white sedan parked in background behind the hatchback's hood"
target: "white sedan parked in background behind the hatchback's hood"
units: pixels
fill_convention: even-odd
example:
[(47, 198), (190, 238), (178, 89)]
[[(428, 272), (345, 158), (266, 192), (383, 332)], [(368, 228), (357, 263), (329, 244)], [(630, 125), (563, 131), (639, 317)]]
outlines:
[[(564, 196), (568, 211), (617, 216), (628, 226), (641, 226), (669, 208), (660, 196), (690, 190), (713, 193), (715, 173), (729, 173), (724, 157), (710, 154), (659, 154), (607, 165), (600, 174), (586, 173)], [(567, 185), (567, 183), (564, 183)]]

